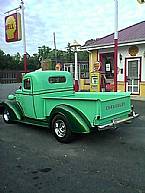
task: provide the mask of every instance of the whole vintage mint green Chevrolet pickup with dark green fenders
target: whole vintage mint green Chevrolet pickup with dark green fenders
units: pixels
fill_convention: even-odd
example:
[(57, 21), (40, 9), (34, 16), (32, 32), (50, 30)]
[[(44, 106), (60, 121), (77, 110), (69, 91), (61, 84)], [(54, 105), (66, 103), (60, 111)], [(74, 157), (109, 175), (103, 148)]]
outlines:
[(21, 88), (3, 106), (6, 123), (48, 127), (62, 143), (70, 142), (74, 133), (108, 129), (138, 116), (130, 93), (74, 92), (73, 78), (65, 71), (25, 74)]

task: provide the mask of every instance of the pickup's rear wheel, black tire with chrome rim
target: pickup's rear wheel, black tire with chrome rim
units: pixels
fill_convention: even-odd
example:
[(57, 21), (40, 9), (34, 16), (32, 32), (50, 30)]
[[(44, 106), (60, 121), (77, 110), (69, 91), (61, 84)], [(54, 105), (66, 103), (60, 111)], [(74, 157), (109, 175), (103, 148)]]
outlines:
[(55, 138), (61, 143), (69, 143), (72, 140), (72, 131), (67, 118), (57, 114), (52, 120), (52, 130)]

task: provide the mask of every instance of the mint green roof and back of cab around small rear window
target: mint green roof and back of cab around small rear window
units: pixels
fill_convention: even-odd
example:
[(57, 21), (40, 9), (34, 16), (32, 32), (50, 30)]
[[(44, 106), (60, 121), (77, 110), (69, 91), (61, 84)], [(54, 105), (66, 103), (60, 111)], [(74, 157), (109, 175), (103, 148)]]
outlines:
[(30, 78), (33, 83), (33, 92), (73, 89), (73, 77), (67, 71), (34, 71), (25, 74), (23, 79), (27, 78)]

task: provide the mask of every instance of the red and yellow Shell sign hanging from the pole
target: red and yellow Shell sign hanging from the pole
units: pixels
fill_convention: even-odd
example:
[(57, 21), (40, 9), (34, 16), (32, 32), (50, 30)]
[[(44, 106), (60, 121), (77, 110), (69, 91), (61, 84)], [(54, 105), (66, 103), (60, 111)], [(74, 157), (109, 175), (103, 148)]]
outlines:
[(6, 42), (15, 42), (22, 39), (21, 14), (13, 13), (5, 17)]

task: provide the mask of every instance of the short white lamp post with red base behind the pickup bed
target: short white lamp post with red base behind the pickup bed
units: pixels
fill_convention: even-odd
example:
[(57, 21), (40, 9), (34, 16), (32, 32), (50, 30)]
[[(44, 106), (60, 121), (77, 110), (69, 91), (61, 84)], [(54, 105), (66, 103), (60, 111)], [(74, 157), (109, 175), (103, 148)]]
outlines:
[(77, 50), (81, 45), (74, 40), (73, 44), (71, 44), (71, 48), (74, 49), (75, 52), (75, 91), (77, 92), (79, 90), (79, 84), (78, 84), (78, 58), (77, 58)]

